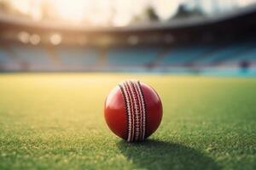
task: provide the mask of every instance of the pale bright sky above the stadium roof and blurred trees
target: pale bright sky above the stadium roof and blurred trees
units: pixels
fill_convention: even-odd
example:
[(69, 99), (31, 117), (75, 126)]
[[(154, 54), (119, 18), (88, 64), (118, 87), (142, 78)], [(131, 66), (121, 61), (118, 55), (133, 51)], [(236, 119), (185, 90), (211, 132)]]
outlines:
[[(180, 3), (190, 7), (197, 4), (206, 14), (224, 12), (235, 7), (244, 7), (256, 0), (0, 0), (7, 1), (22, 14), (42, 19), (42, 7), (49, 8), (52, 15), (62, 20), (81, 23), (88, 20), (95, 26), (126, 26), (134, 16), (143, 16), (143, 11), (152, 6), (160, 20), (168, 20), (177, 12)], [(218, 8), (218, 10), (217, 10)]]

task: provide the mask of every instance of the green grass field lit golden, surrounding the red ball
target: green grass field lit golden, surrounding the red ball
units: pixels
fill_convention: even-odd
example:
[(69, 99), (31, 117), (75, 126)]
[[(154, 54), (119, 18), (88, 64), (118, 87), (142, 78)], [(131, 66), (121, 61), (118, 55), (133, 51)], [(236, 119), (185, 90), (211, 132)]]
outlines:
[[(126, 78), (153, 86), (164, 106), (160, 128), (139, 144), (103, 118)], [(256, 79), (2, 74), (0, 169), (256, 169)]]

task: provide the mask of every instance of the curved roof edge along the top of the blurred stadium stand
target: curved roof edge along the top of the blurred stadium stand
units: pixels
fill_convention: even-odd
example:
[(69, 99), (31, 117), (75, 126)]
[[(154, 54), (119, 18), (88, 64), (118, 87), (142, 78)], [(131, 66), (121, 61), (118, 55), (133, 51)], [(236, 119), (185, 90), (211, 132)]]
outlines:
[(2, 27), (18, 26), (40, 30), (55, 30), (55, 31), (154, 31), (154, 30), (174, 30), (180, 28), (188, 28), (195, 26), (208, 26), (214, 25), (226, 20), (233, 20), (242, 18), (245, 16), (256, 17), (256, 5), (251, 5), (247, 8), (241, 8), (239, 10), (230, 12), (228, 14), (217, 14), (213, 16), (205, 17), (190, 17), (187, 19), (174, 19), (168, 22), (150, 22), (125, 27), (92, 27), (92, 26), (80, 26), (70, 23), (62, 22), (50, 22), (50, 21), (32, 21), (24, 17), (16, 17), (9, 14), (0, 13), (0, 25)]

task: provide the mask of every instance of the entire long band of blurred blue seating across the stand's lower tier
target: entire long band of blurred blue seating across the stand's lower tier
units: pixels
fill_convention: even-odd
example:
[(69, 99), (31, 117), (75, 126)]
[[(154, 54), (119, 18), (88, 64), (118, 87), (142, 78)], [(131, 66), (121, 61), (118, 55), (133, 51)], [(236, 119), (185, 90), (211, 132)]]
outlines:
[[(10, 45), (0, 48), (3, 71), (212, 71), (256, 65), (256, 42), (229, 45), (190, 45), (172, 48), (114, 47), (101, 53), (100, 48), (59, 46), (44, 48)], [(8, 49), (8, 50), (7, 50)], [(13, 54), (13, 55), (12, 55)], [(161, 68), (162, 67), (162, 68)], [(132, 68), (132, 69), (131, 69)], [(230, 67), (231, 68), (231, 67)], [(173, 70), (174, 69), (174, 70)], [(178, 69), (178, 70), (177, 70)]]

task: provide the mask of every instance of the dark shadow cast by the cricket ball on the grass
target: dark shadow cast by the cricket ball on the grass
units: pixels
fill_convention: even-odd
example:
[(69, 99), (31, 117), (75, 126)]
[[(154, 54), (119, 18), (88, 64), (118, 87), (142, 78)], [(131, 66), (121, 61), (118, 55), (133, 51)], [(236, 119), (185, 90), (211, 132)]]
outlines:
[(211, 157), (182, 144), (148, 139), (136, 144), (119, 141), (118, 147), (136, 169), (220, 169)]

